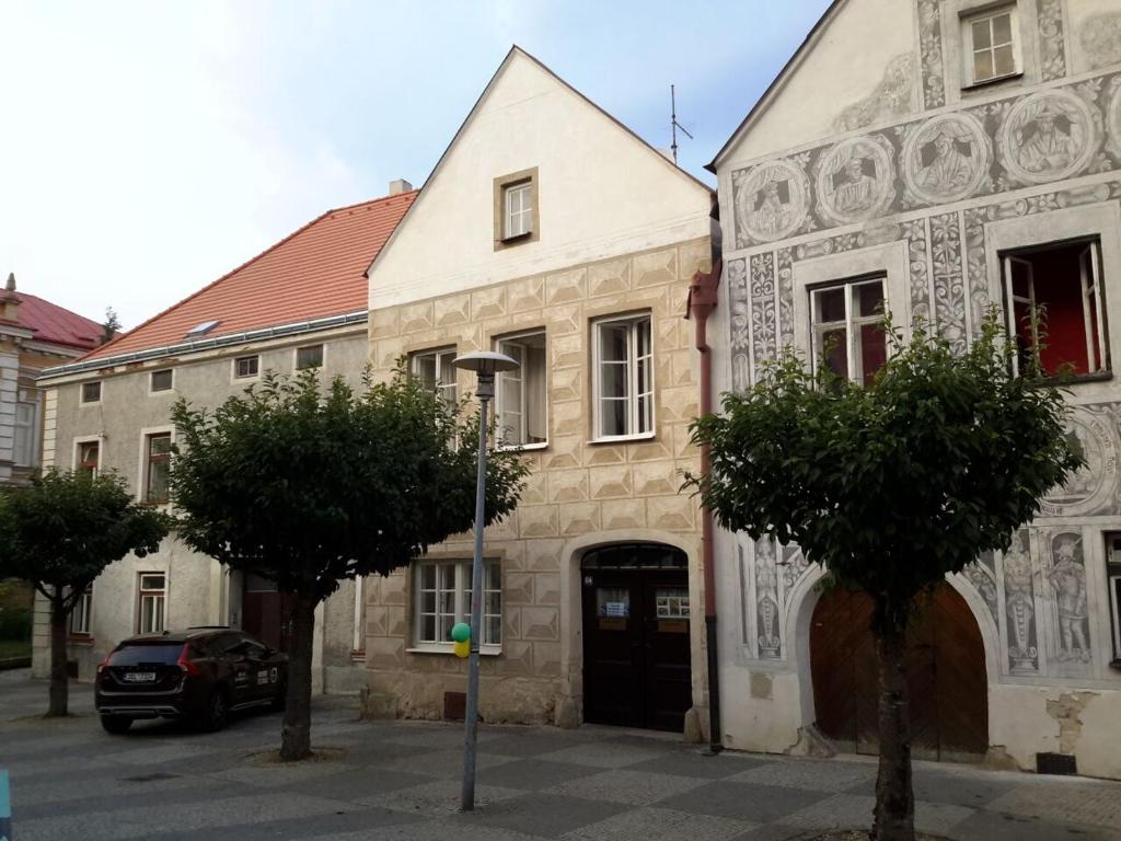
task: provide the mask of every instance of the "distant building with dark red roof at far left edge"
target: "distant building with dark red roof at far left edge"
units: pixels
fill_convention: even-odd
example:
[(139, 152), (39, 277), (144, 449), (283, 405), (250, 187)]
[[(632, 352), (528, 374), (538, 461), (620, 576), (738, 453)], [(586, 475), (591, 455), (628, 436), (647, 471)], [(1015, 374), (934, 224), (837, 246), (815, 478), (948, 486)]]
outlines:
[(49, 301), (16, 289), (15, 274), (0, 292), (0, 484), (26, 481), (39, 466), (44, 368), (95, 349), (104, 327)]

